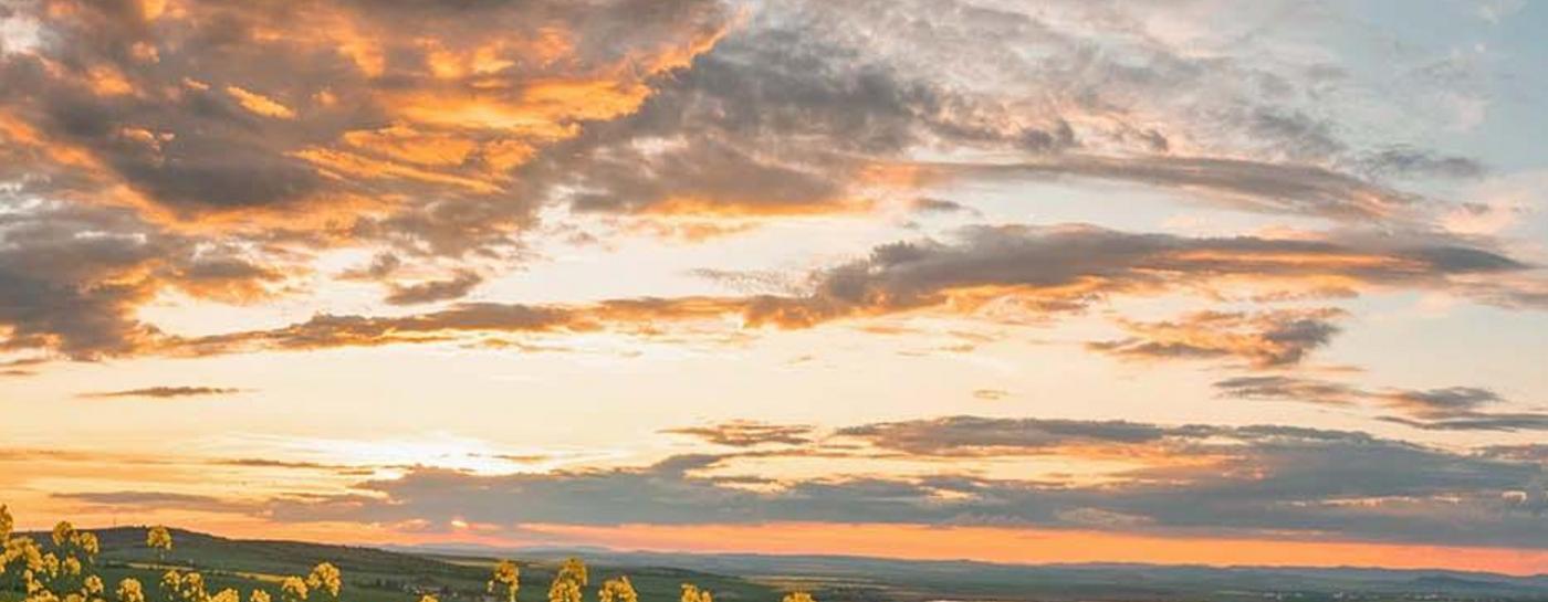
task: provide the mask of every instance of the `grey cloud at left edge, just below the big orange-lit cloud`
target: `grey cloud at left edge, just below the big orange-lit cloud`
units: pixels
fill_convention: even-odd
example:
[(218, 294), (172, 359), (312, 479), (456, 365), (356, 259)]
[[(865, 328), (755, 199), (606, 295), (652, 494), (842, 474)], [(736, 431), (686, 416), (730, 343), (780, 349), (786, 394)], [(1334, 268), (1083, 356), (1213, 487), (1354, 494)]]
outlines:
[[(136, 317), (159, 291), (251, 302), (286, 275), (259, 248), (203, 241), (128, 210), (8, 197), (0, 215), (0, 348), (70, 359), (147, 353), (166, 339)], [(283, 265), (280, 262), (280, 265)]]

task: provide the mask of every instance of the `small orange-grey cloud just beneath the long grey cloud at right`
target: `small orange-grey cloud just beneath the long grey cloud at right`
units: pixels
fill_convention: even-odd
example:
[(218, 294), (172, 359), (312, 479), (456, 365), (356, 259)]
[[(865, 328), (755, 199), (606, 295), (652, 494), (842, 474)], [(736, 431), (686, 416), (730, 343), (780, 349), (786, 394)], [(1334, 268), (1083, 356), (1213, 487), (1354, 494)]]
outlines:
[(1322, 308), (1255, 314), (1197, 311), (1175, 322), (1121, 319), (1119, 327), (1130, 337), (1090, 342), (1087, 348), (1124, 359), (1238, 357), (1252, 368), (1277, 368), (1300, 364), (1310, 351), (1325, 347), (1339, 331), (1330, 319), (1344, 314)]

